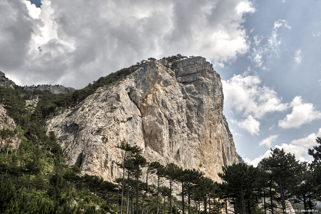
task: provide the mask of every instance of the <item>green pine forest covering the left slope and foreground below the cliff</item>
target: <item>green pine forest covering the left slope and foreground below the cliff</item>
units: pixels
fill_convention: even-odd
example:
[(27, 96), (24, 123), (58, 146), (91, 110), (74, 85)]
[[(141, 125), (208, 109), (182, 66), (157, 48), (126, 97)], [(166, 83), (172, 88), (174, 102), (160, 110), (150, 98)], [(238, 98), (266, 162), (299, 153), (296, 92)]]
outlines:
[[(175, 68), (177, 61), (184, 58), (187, 57), (177, 54), (163, 59)], [(155, 60), (148, 58), (150, 62)], [(142, 60), (141, 63), (148, 61)], [(117, 185), (96, 175), (82, 175), (80, 165), (66, 165), (59, 139), (54, 132), (46, 133), (45, 119), (57, 111), (69, 111), (99, 87), (133, 73), (137, 65), (100, 77), (93, 84), (89, 83), (85, 88), (68, 94), (0, 87), (0, 105), (7, 109), (16, 123), (15, 130), (0, 130), (0, 213), (108, 211), (116, 214), (124, 211), (123, 204), (128, 204), (127, 212), (137, 214), (176, 214), (178, 210), (187, 211), (188, 214), (221, 214), (222, 209), (224, 213), (262, 214), (263, 208), (273, 214), (278, 204), (285, 207), (286, 200), (294, 199), (305, 209), (313, 208), (316, 201), (320, 200), (319, 145), (309, 150), (309, 154), (315, 158), (310, 164), (299, 164), (294, 155), (275, 149), (272, 150), (272, 157), (262, 162), (269, 173), (245, 164), (223, 167), (223, 173), (219, 174), (222, 184), (213, 183), (195, 169), (183, 170), (174, 163), (166, 166), (156, 161), (148, 163), (142, 156), (141, 148), (125, 141), (117, 146), (123, 151), (122, 163), (117, 163), (123, 169), (115, 181)], [(33, 99), (38, 99), (37, 105)], [(102, 129), (97, 128), (97, 132)], [(21, 144), (19, 148), (10, 150), (8, 144), (13, 136), (17, 136)], [(317, 144), (320, 143), (318, 137)], [(157, 176), (157, 181), (154, 181), (157, 185), (148, 183), (155, 177), (152, 174)], [(141, 178), (145, 179), (144, 182)], [(177, 184), (182, 201), (178, 201), (172, 193), (178, 191), (175, 189)], [(125, 189), (127, 197), (124, 197)], [(265, 198), (270, 199), (270, 205), (265, 204)], [(134, 205), (133, 202), (131, 207), (134, 199), (136, 203)], [(264, 206), (259, 209), (262, 200)]]

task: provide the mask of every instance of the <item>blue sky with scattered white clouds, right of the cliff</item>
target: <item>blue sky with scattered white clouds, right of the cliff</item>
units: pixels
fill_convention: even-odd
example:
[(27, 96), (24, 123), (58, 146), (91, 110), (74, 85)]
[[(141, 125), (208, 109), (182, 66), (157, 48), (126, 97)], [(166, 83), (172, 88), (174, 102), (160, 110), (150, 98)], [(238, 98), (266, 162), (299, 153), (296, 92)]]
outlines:
[[(251, 43), (249, 51), (225, 69), (216, 69), (223, 83), (230, 83), (229, 87), (235, 88), (241, 81), (243, 85), (238, 89), (248, 89), (245, 103), (236, 102), (235, 94), (224, 91), (224, 114), (237, 151), (254, 165), (268, 154), (268, 148), (275, 147), (310, 161), (307, 149), (321, 134), (321, 4), (318, 1), (256, 1), (254, 7), (256, 11), (247, 13), (243, 23)], [(249, 77), (259, 83), (252, 81), (245, 85)], [(276, 98), (279, 103), (271, 105), (268, 100), (260, 101), (255, 96)], [(248, 100), (258, 106), (250, 106)], [(240, 109), (242, 105), (245, 107)], [(264, 108), (269, 111), (265, 112)]]

